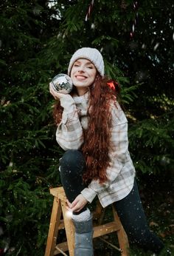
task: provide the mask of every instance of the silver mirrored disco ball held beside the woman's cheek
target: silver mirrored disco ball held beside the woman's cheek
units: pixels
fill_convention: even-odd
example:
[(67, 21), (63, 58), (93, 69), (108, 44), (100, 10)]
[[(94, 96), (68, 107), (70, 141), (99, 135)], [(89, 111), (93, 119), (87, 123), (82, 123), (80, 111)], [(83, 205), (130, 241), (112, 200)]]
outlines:
[(67, 94), (72, 91), (72, 79), (69, 75), (58, 74), (52, 79), (52, 88), (56, 92)]

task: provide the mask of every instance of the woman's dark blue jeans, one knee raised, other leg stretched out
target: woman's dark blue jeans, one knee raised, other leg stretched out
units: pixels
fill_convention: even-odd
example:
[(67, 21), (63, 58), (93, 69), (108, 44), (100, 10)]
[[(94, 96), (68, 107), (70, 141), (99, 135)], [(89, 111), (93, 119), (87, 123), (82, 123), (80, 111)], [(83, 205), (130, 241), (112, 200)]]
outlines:
[[(82, 180), (85, 168), (83, 154), (78, 150), (66, 151), (60, 161), (60, 178), (66, 197), (70, 202), (74, 201), (74, 198), (86, 187)], [(136, 181), (128, 196), (116, 201), (114, 207), (130, 243), (136, 244), (145, 251), (151, 250), (155, 253), (159, 253), (163, 249), (163, 243), (150, 232), (147, 225)]]

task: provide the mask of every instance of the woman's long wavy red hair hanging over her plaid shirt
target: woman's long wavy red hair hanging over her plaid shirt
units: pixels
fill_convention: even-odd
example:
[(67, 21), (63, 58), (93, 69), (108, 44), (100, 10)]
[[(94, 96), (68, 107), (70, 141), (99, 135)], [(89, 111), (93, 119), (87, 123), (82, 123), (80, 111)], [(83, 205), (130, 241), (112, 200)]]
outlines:
[[(109, 151), (111, 149), (111, 101), (116, 102), (119, 94), (119, 85), (115, 83), (115, 90), (108, 86), (108, 78), (97, 74), (94, 84), (88, 88), (88, 129), (83, 130), (83, 156), (86, 159), (86, 171), (83, 181), (99, 180), (104, 183), (108, 180), (106, 169), (109, 166)], [(74, 92), (72, 92), (73, 94)], [(60, 101), (55, 104), (53, 117), (59, 124), (63, 109)]]

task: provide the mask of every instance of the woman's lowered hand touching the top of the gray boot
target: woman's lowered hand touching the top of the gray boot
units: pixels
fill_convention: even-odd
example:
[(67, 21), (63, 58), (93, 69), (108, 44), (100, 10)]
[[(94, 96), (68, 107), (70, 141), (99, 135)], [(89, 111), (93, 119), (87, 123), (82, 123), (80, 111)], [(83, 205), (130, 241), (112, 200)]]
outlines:
[(77, 195), (77, 198), (75, 198), (72, 203), (67, 201), (68, 208), (71, 212), (80, 212), (80, 210), (86, 206), (86, 203), (88, 203), (88, 201), (83, 197), (82, 194)]

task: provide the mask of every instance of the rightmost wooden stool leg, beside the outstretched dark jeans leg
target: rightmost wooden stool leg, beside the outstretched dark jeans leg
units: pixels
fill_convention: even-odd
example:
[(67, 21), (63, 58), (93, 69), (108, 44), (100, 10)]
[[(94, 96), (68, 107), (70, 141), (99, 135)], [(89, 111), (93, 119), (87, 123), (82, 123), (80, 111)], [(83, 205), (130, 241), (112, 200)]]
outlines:
[(128, 247), (129, 247), (128, 237), (127, 237), (125, 230), (123, 229), (123, 226), (119, 220), (119, 216), (116, 213), (116, 209), (114, 208), (114, 205), (112, 205), (112, 210), (113, 210), (113, 214), (114, 214), (114, 220), (119, 221), (119, 223), (121, 225), (120, 229), (117, 231), (117, 237), (119, 240), (119, 248), (122, 250), (121, 255), (128, 256)]

